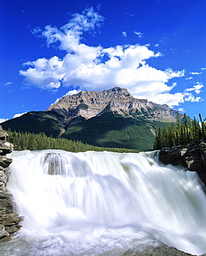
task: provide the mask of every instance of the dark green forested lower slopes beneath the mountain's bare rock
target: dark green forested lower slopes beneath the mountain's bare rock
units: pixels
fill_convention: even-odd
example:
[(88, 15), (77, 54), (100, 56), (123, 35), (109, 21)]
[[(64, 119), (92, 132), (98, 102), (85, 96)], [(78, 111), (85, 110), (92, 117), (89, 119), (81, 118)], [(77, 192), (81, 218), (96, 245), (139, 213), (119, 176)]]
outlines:
[[(169, 125), (170, 122), (154, 121), (153, 118), (149, 119), (145, 116), (137, 117), (136, 111), (133, 110), (130, 114), (132, 116), (128, 113), (127, 116), (121, 116), (119, 113), (108, 111), (68, 128), (68, 120), (54, 111), (32, 111), (19, 118), (3, 122), (1, 125), (5, 130), (30, 134), (44, 133), (48, 137), (81, 141), (96, 147), (152, 150), (155, 130)], [(79, 121), (78, 118), (76, 122)], [(34, 146), (34, 149), (37, 149), (37, 146)]]

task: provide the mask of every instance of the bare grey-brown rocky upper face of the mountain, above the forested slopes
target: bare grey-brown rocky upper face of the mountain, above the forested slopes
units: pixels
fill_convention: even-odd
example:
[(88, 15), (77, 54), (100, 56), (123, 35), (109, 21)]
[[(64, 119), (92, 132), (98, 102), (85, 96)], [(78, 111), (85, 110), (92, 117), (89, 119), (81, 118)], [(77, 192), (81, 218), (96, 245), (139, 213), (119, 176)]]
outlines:
[(69, 122), (68, 127), (82, 120), (112, 111), (122, 116), (145, 116), (150, 120), (172, 122), (176, 120), (176, 111), (166, 104), (155, 104), (148, 100), (134, 98), (127, 89), (114, 87), (102, 92), (81, 91), (68, 95), (52, 104), (46, 111), (55, 111)]

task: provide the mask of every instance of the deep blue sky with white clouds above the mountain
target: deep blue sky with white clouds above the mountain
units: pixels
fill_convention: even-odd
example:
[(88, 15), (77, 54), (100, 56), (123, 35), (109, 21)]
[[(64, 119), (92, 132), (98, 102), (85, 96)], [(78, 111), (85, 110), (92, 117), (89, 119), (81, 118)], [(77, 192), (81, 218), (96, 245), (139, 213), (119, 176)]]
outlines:
[(0, 0), (0, 121), (114, 86), (206, 118), (205, 10), (205, 0)]

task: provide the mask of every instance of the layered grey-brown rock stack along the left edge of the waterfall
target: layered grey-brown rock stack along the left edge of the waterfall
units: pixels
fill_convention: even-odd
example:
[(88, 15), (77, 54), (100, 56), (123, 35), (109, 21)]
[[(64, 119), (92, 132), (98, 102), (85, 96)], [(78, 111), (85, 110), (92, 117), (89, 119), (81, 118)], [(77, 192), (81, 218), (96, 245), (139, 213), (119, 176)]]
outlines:
[(12, 194), (6, 193), (7, 167), (12, 163), (12, 159), (6, 156), (12, 152), (12, 145), (6, 141), (7, 136), (8, 132), (3, 131), (0, 125), (0, 241), (10, 239), (21, 228), (19, 222), (23, 221), (23, 217), (14, 212)]

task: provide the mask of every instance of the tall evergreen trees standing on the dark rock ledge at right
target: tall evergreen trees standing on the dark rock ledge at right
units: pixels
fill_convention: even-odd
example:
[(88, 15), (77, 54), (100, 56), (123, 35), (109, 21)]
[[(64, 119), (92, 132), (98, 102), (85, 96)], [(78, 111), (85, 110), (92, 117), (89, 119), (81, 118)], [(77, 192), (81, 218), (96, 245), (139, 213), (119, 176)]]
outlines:
[(206, 138), (206, 124), (199, 114), (200, 122), (191, 120), (189, 116), (184, 114), (181, 118), (180, 114), (176, 116), (176, 122), (172, 122), (169, 126), (156, 130), (154, 140), (154, 150), (163, 147), (174, 147), (190, 143), (193, 140)]

